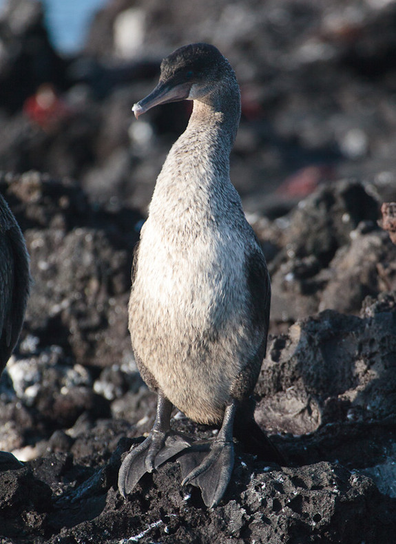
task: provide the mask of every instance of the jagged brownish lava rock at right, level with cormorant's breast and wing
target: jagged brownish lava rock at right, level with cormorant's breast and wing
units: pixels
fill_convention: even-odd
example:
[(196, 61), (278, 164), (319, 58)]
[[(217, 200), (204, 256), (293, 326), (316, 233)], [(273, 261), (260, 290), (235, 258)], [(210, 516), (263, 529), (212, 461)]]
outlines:
[[(377, 227), (379, 201), (355, 180), (320, 187), (259, 236), (273, 244), (271, 320), (325, 308), (358, 314), (368, 295), (396, 288), (396, 249)], [(278, 251), (276, 251), (278, 249)], [(273, 256), (273, 253), (275, 255)]]

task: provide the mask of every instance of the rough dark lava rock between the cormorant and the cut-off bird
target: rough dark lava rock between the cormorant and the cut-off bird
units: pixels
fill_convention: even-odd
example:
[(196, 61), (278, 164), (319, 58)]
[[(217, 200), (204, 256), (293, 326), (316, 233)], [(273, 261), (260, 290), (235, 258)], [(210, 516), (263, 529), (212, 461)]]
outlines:
[(0, 189), (30, 253), (25, 329), (84, 365), (131, 359), (127, 300), (140, 214), (93, 207), (75, 183), (35, 172), (3, 176)]

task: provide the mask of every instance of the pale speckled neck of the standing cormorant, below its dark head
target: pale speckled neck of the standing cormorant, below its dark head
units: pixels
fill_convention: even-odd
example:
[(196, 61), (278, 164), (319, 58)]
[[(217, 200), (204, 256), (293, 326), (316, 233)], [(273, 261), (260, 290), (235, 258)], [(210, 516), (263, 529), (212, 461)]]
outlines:
[(235, 74), (208, 90), (194, 98), (187, 129), (169, 151), (149, 206), (149, 215), (160, 217), (173, 231), (179, 223), (185, 229), (185, 213), (188, 224), (202, 226), (216, 209), (224, 208), (228, 194), (236, 199), (229, 179), (229, 154), (240, 119)]

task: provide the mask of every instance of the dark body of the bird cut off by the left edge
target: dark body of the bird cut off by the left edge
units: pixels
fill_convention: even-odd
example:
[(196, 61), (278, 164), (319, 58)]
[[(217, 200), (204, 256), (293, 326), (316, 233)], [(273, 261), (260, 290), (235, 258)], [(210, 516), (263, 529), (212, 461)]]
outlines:
[(17, 344), (29, 289), (29, 258), (25, 240), (0, 195), (0, 372)]

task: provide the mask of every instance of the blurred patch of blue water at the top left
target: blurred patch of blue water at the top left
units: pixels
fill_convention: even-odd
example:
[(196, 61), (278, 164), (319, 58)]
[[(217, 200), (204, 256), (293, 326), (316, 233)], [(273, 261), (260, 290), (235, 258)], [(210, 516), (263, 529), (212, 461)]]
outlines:
[[(63, 54), (78, 52), (92, 17), (108, 0), (42, 0), (45, 21), (54, 48)], [(0, 9), (7, 0), (0, 0)]]

